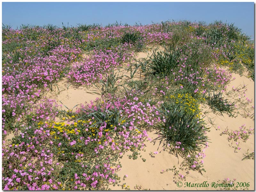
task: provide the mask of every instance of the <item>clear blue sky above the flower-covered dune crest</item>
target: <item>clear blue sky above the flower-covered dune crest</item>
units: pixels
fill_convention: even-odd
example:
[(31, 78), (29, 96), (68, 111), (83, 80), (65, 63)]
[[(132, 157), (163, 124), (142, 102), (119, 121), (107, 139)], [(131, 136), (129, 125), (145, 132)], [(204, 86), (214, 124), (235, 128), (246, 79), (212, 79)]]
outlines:
[(215, 20), (234, 23), (254, 38), (254, 2), (3, 2), (2, 23), (13, 28), (21, 24), (43, 26), (120, 21), (143, 25), (166, 20)]

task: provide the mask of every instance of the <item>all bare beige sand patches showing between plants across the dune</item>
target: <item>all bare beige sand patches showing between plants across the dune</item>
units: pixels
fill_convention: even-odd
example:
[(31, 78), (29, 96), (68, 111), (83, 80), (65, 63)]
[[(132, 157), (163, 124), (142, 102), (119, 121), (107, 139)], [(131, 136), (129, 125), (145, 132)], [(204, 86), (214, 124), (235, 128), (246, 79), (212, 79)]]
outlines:
[[(148, 55), (152, 54), (152, 50), (149, 50), (147, 53), (139, 53), (137, 59), (147, 58)], [(124, 75), (129, 76), (124, 69), (121, 70)], [(240, 76), (233, 74), (233, 77), (236, 77), (234, 81), (228, 85), (227, 90), (232, 90), (232, 87), (237, 87), (239, 85), (246, 85), (246, 88), (241, 90), (241, 93), (229, 94), (225, 96), (231, 101), (238, 99), (240, 94), (241, 101), (246, 101), (245, 98), (254, 100), (254, 82), (248, 79), (245, 76)], [(137, 74), (136, 78), (140, 78)], [(58, 87), (57, 87), (58, 86)], [(53, 86), (54, 91), (49, 91), (47, 97), (51, 99), (56, 99), (58, 104), (61, 104), (60, 101), (67, 106), (69, 109), (72, 109), (74, 106), (80, 103), (89, 103), (91, 100), (95, 100), (100, 95), (92, 94), (92, 92), (98, 92), (99, 90), (95, 87), (90, 89), (80, 86), (75, 87), (68, 84), (67, 79), (64, 79), (57, 83), (57, 86)], [(59, 88), (59, 89), (58, 89)], [(243, 92), (244, 91), (244, 92)], [(234, 92), (234, 91), (232, 91)], [(246, 94), (246, 96), (244, 96)], [(225, 95), (225, 94), (224, 94)], [(254, 135), (250, 136), (250, 139), (246, 142), (240, 142), (241, 149), (238, 153), (234, 152), (234, 148), (229, 146), (231, 143), (228, 142), (227, 135), (220, 136), (220, 133), (228, 127), (230, 130), (238, 130), (242, 124), (246, 124), (246, 127), (254, 128), (254, 120), (248, 116), (252, 115), (254, 103), (248, 104), (245, 108), (250, 109), (249, 115), (246, 115), (243, 109), (238, 109), (237, 111), (240, 114), (237, 117), (228, 117), (228, 115), (223, 114), (214, 114), (209, 109), (209, 106), (202, 106), (202, 112), (207, 126), (211, 127), (210, 132), (207, 133), (210, 142), (209, 147), (205, 150), (206, 157), (204, 159), (204, 168), (206, 173), (200, 174), (195, 171), (185, 171), (180, 170), (180, 174), (186, 175), (186, 179), (182, 180), (182, 187), (177, 187), (176, 182), (180, 181), (176, 176), (174, 178), (174, 172), (168, 171), (161, 173), (162, 170), (168, 168), (173, 168), (173, 166), (180, 167), (182, 158), (175, 156), (163, 150), (163, 146), (159, 145), (159, 142), (155, 144), (150, 141), (146, 141), (145, 151), (141, 151), (138, 159), (132, 160), (128, 158), (126, 153), (122, 159), (120, 159), (122, 164), (121, 171), (118, 172), (118, 175), (121, 177), (120, 186), (110, 186), (113, 190), (122, 190), (121, 185), (126, 183), (126, 187), (129, 186), (131, 190), (134, 190), (135, 186), (139, 186), (136, 189), (150, 189), (150, 190), (216, 190), (218, 188), (212, 188), (211, 183), (218, 180), (224, 180), (225, 178), (234, 179), (236, 178), (237, 182), (250, 182), (250, 190), (254, 189), (254, 161), (253, 160), (242, 160), (243, 154), (246, 153), (247, 149), (249, 152), (254, 151)], [(67, 110), (64, 106), (62, 109)], [(212, 122), (212, 124), (211, 124)], [(218, 128), (219, 127), (219, 128)], [(149, 138), (152, 140), (157, 138), (156, 132), (148, 132)], [(13, 135), (10, 134), (10, 137)], [(10, 138), (9, 137), (9, 138)], [(154, 152), (158, 154), (154, 154)], [(153, 152), (153, 156), (149, 153)], [(146, 159), (145, 162), (141, 158)], [(124, 175), (128, 175), (127, 178), (123, 181), (122, 178)], [(203, 183), (207, 181), (209, 187), (199, 187), (199, 188), (188, 188), (184, 187), (185, 182), (192, 183)]]

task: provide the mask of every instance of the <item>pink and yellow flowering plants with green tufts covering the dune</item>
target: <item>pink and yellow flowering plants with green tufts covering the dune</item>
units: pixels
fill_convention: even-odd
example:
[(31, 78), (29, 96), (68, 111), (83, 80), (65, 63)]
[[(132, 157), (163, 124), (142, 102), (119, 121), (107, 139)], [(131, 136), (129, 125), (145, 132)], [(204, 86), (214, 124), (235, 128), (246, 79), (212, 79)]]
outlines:
[[(181, 158), (179, 167), (159, 170), (172, 172), (176, 184), (211, 166), (203, 159), (221, 123), (207, 114), (254, 121), (246, 85), (228, 87), (234, 75), (254, 81), (254, 44), (233, 24), (4, 25), (2, 36), (3, 190), (143, 189), (122, 183), (129, 177), (120, 173), (125, 158), (148, 165), (160, 155), (147, 151), (148, 142)], [(147, 58), (136, 58), (148, 49)], [(45, 96), (64, 78), (77, 89), (99, 89), (99, 98), (65, 109)], [(254, 134), (245, 123), (221, 127), (232, 153)], [(243, 155), (254, 160), (254, 151)]]

